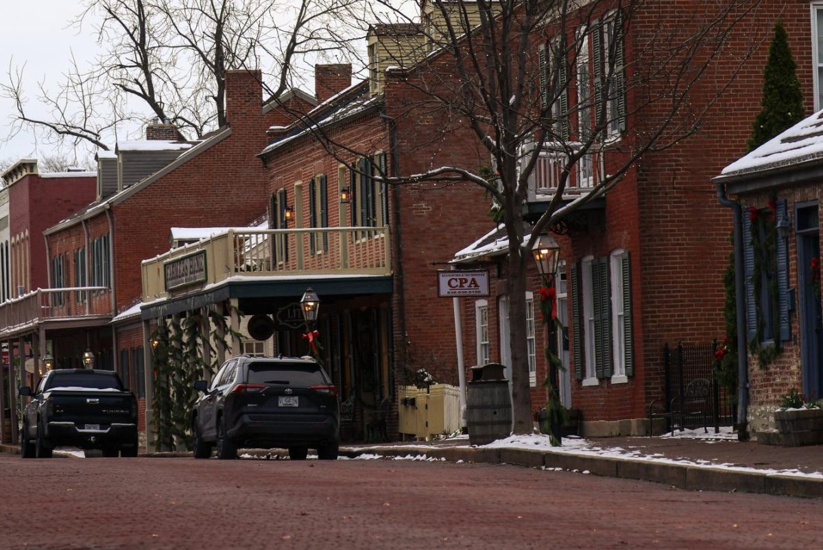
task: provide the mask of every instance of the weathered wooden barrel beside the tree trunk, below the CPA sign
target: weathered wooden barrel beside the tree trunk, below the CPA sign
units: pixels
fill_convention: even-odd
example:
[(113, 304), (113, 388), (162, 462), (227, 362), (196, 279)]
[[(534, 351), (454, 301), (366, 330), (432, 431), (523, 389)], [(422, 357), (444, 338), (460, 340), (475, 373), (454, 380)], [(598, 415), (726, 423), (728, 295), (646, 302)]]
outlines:
[(466, 426), (472, 445), (486, 445), (511, 434), (508, 380), (478, 380), (467, 384)]

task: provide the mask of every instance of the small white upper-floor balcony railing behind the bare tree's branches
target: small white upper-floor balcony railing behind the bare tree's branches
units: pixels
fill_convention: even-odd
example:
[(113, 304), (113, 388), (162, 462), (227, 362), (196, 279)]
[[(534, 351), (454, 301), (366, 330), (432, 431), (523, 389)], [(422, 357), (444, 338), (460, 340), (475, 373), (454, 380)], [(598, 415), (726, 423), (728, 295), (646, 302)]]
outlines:
[[(523, 162), (525, 161), (524, 158)], [(567, 162), (568, 156), (565, 151), (546, 144), (528, 178), (528, 200), (540, 201), (554, 197)], [(587, 193), (600, 183), (606, 173), (603, 151), (588, 151), (577, 161), (572, 170), (563, 189), (563, 195), (570, 198)]]

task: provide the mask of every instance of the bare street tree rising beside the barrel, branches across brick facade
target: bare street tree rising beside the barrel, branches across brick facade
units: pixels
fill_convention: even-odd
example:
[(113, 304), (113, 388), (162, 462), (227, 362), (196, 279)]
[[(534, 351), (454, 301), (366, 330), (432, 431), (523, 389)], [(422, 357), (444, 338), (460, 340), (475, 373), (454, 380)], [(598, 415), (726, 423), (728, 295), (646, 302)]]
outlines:
[[(412, 92), (412, 100), (395, 98), (401, 105), (389, 114), (398, 124), (438, 121), (403, 137), (407, 150), (416, 146), (419, 155), (430, 155), (421, 161), (430, 170), (382, 179), (394, 185), (477, 184), (504, 226), (517, 433), (532, 431), (523, 319), (526, 273), (538, 236), (602, 197), (644, 155), (698, 131), (759, 45), (740, 40), (748, 30), (741, 23), (754, 21), (758, 0), (681, 2), (677, 12), (665, 13), (663, 4), (669, 2), (426, 0), (420, 18), (389, 0), (370, 5), (372, 24), (405, 23), (419, 33), (386, 49), (394, 56), (390, 63), (372, 60), (373, 78), (386, 64), (395, 65), (386, 79), (399, 79)], [(346, 161), (351, 147), (334, 142), (317, 121), (304, 124)], [(479, 147), (489, 163), (443, 165), (429, 147), (435, 142)], [(523, 203), (538, 163), (546, 159), (551, 193), (529, 234)]]

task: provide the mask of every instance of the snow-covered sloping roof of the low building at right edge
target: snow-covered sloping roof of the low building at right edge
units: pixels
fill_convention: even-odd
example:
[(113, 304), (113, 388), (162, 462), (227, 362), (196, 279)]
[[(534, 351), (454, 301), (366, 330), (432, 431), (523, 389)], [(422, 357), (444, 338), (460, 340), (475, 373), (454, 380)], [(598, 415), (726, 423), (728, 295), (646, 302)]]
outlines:
[(823, 110), (732, 162), (721, 174), (742, 175), (816, 159), (823, 159)]

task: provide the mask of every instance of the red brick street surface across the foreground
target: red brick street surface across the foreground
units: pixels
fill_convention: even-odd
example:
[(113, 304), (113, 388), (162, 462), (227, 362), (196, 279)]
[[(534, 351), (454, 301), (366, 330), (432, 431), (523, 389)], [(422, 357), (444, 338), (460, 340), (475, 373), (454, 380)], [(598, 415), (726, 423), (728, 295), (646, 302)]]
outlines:
[(0, 456), (0, 548), (812, 548), (823, 502), (507, 465)]

